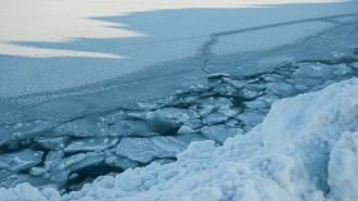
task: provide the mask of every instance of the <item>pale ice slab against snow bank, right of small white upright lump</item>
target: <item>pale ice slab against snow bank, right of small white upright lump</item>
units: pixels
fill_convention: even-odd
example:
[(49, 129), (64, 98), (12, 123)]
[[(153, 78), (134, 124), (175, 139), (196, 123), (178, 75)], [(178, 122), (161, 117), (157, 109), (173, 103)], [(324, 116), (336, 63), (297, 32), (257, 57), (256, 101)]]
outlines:
[(203, 135), (208, 139), (222, 145), (229, 137), (234, 137), (243, 133), (241, 128), (231, 128), (227, 125), (205, 126), (201, 129)]

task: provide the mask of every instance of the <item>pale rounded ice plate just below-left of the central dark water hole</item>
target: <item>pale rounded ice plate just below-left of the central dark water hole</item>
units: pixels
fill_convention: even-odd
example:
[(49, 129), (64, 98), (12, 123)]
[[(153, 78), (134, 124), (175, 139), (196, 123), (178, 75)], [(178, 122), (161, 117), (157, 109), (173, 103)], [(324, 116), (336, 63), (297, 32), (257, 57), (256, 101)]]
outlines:
[(158, 150), (148, 138), (122, 138), (116, 154), (132, 161), (148, 163), (158, 155)]

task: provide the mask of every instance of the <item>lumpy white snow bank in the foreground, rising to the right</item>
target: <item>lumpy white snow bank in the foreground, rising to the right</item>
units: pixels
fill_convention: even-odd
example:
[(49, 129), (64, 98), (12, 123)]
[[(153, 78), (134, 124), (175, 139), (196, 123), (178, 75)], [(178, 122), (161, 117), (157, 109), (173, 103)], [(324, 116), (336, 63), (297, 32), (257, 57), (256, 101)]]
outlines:
[(357, 200), (358, 79), (273, 103), (222, 147), (192, 142), (175, 163), (102, 176), (67, 194), (27, 184), (5, 200)]

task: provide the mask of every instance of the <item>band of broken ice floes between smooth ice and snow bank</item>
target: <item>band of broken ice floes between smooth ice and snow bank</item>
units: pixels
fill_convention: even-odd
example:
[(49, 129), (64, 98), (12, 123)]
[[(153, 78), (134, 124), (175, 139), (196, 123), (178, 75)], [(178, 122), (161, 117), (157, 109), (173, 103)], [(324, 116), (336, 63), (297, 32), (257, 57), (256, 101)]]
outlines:
[[(274, 101), (357, 76), (354, 56), (325, 64), (290, 63), (248, 77), (210, 74), (208, 88), (141, 101), (135, 109), (118, 108), (64, 123), (2, 126), (0, 187), (27, 181), (39, 188), (73, 190), (93, 179), (82, 169), (95, 178), (152, 162), (172, 162), (193, 141), (222, 145), (261, 123)], [(21, 158), (21, 150), (40, 152), (43, 158), (12, 169), (5, 155)]]

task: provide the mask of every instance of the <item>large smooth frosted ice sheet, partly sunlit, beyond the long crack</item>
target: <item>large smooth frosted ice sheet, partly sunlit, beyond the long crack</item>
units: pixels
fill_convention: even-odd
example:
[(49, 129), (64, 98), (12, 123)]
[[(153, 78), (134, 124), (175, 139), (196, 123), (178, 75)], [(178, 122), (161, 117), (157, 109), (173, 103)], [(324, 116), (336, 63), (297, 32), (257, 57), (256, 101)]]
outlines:
[(1, 1), (0, 96), (76, 88), (194, 56), (214, 33), (357, 10), (356, 2), (304, 2)]

